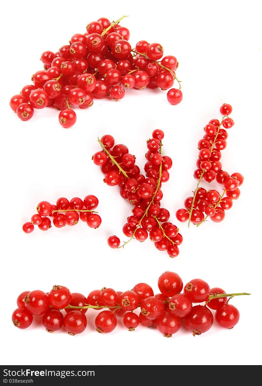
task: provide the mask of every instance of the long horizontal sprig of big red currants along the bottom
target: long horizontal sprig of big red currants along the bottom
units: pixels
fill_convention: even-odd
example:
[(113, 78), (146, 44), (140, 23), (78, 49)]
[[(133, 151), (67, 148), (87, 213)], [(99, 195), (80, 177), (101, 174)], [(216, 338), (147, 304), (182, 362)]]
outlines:
[[(95, 329), (108, 333), (122, 318), (124, 327), (134, 331), (136, 327), (156, 326), (165, 337), (172, 337), (181, 323), (200, 335), (213, 325), (213, 313), (218, 325), (233, 328), (239, 320), (237, 308), (228, 301), (237, 295), (226, 294), (221, 288), (210, 289), (202, 279), (193, 279), (184, 286), (177, 273), (164, 272), (158, 279), (160, 293), (154, 295), (149, 284), (138, 283), (131, 291), (115, 291), (113, 288), (95, 289), (85, 297), (71, 293), (64, 286), (54, 285), (51, 291), (24, 291), (17, 298), (18, 308), (12, 314), (12, 322), (18, 328), (27, 328), (33, 315), (43, 315), (43, 325), (48, 332), (63, 327), (70, 335), (80, 334), (87, 327), (85, 313), (88, 308), (100, 311), (95, 318)], [(229, 299), (227, 299), (229, 297)], [(204, 305), (194, 305), (203, 303)], [(64, 310), (64, 313), (61, 311)], [(134, 312), (137, 310), (139, 313)], [(184, 321), (184, 322), (183, 322)]]

